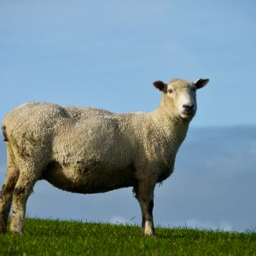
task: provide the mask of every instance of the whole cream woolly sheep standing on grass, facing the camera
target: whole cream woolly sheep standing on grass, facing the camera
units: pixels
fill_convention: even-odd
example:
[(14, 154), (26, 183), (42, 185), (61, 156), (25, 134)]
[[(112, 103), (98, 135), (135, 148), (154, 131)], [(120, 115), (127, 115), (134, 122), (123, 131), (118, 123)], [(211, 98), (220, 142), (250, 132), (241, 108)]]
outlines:
[(209, 79), (154, 82), (159, 108), (149, 113), (111, 113), (43, 102), (20, 105), (3, 119), (7, 177), (0, 193), (0, 232), (22, 233), (26, 201), (44, 179), (82, 194), (133, 187), (143, 234), (154, 235), (154, 187), (169, 177), (177, 150), (195, 116), (195, 91)]

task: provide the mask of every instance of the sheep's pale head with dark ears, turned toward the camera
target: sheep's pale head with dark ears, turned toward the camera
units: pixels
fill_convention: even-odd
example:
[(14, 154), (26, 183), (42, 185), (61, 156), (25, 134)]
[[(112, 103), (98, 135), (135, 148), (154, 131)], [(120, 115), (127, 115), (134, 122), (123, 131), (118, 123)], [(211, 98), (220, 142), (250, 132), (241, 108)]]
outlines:
[(165, 105), (172, 108), (172, 113), (182, 119), (191, 119), (196, 112), (196, 90), (201, 89), (209, 79), (198, 79), (195, 82), (183, 79), (172, 79), (169, 83), (155, 81), (154, 87), (164, 94)]

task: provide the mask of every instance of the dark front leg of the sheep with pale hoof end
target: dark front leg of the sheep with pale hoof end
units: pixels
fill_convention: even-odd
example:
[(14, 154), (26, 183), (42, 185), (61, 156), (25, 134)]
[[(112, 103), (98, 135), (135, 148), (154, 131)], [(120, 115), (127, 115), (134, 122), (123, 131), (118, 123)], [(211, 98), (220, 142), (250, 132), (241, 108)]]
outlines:
[(135, 188), (135, 193), (143, 215), (143, 234), (145, 236), (154, 236), (154, 185), (139, 183)]

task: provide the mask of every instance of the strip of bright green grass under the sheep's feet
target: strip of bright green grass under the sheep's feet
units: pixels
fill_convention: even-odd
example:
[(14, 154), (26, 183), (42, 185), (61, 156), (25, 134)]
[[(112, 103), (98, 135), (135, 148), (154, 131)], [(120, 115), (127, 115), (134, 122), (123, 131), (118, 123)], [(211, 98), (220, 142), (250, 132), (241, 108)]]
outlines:
[(0, 255), (256, 255), (256, 233), (26, 218), (23, 235), (0, 235)]

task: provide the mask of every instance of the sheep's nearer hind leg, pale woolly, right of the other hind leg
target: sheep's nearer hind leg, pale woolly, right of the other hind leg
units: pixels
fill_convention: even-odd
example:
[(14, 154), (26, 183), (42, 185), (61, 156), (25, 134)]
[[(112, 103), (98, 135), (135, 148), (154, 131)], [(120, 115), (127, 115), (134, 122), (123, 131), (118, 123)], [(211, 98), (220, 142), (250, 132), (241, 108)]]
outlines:
[(26, 201), (37, 180), (38, 174), (34, 166), (26, 166), (22, 170), (20, 169), (20, 176), (13, 195), (13, 214), (10, 224), (10, 231), (13, 233), (21, 233), (23, 230)]

